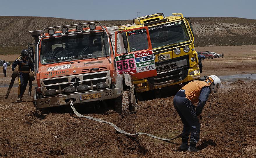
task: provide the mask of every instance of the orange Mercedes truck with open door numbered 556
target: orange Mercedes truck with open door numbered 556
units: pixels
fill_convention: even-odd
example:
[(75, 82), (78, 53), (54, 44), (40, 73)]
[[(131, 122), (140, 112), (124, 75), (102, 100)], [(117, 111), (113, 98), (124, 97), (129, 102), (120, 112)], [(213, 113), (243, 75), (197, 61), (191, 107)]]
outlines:
[[(129, 114), (137, 110), (131, 75), (137, 78), (157, 75), (147, 27), (116, 33), (122, 36), (126, 48), (123, 54), (115, 53), (112, 35), (100, 22), (29, 33), (35, 40), (35, 53), (29, 47), (29, 55), (35, 56), (37, 87), (33, 104), (36, 109), (69, 105), (70, 100), (73, 104), (106, 101), (114, 104), (117, 112)], [(133, 50), (127, 49), (131, 46), (127, 39), (141, 37), (140, 43), (133, 43)], [(146, 47), (142, 46), (143, 42)], [(148, 57), (147, 62), (151, 64), (138, 60), (141, 57)], [(143, 65), (150, 67), (141, 68)]]

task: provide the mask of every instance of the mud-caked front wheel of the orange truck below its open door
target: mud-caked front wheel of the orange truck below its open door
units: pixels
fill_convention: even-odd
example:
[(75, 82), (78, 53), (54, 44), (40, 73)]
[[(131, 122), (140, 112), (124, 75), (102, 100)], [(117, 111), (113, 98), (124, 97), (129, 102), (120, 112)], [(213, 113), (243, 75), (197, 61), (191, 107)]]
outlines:
[(123, 91), (123, 94), (115, 99), (115, 111), (119, 114), (130, 114), (129, 92)]

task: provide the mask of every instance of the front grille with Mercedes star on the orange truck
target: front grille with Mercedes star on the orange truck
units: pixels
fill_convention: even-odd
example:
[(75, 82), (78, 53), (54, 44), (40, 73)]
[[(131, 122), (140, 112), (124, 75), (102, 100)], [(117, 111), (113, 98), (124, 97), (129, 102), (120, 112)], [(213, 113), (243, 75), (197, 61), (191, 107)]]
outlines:
[[(74, 84), (71, 80), (76, 77), (79, 78), (80, 81), (77, 81), (78, 84)], [(78, 80), (79, 80), (78, 79)], [(73, 79), (74, 80), (74, 79)], [(100, 82), (105, 82), (108, 89), (111, 84), (110, 73), (109, 71), (95, 72), (95, 73), (85, 73), (80, 75), (72, 75), (72, 76), (63, 76), (59, 78), (49, 78), (41, 80), (42, 92), (45, 96), (45, 91), (49, 89), (55, 89), (56, 94), (65, 94), (64, 88), (72, 87), (72, 85), (88, 85), (87, 91), (95, 91), (97, 90), (96, 84)], [(76, 83), (76, 82), (75, 82)], [(75, 92), (76, 93), (76, 92)]]

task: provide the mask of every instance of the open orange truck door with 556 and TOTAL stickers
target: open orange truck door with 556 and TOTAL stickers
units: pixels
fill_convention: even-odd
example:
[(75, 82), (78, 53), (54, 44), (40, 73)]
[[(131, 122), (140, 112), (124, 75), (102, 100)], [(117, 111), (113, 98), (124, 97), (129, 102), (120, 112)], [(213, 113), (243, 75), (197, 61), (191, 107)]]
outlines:
[(148, 27), (115, 32), (115, 59), (119, 74), (138, 79), (157, 76)]

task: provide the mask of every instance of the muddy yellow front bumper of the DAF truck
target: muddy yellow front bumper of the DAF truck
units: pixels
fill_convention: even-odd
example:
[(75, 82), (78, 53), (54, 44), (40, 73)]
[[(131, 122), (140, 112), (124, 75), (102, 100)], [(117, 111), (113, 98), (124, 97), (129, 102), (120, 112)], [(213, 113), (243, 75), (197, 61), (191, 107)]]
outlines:
[[(136, 92), (150, 91), (150, 90), (154, 90), (154, 89), (159, 89), (159, 88), (163, 88), (163, 87), (177, 85), (177, 84), (180, 84), (180, 83), (189, 82), (189, 81), (192, 81), (192, 80), (199, 79), (200, 78), (200, 73), (197, 73), (197, 74), (194, 74), (194, 75), (189, 75), (189, 73), (191, 71), (195, 71), (195, 70), (198, 70), (198, 72), (199, 72), (199, 68), (197, 66), (188, 69), (188, 73), (187, 73), (186, 78), (184, 78), (183, 80), (177, 81), (177, 82), (170, 81), (169, 83), (165, 83), (165, 84), (162, 84), (162, 85), (153, 85), (148, 81), (148, 79), (143, 79), (143, 80), (133, 81), (133, 85), (135, 85)], [(139, 83), (142, 83), (142, 85), (145, 84), (146, 86), (136, 87), (136, 85), (139, 84)]]

